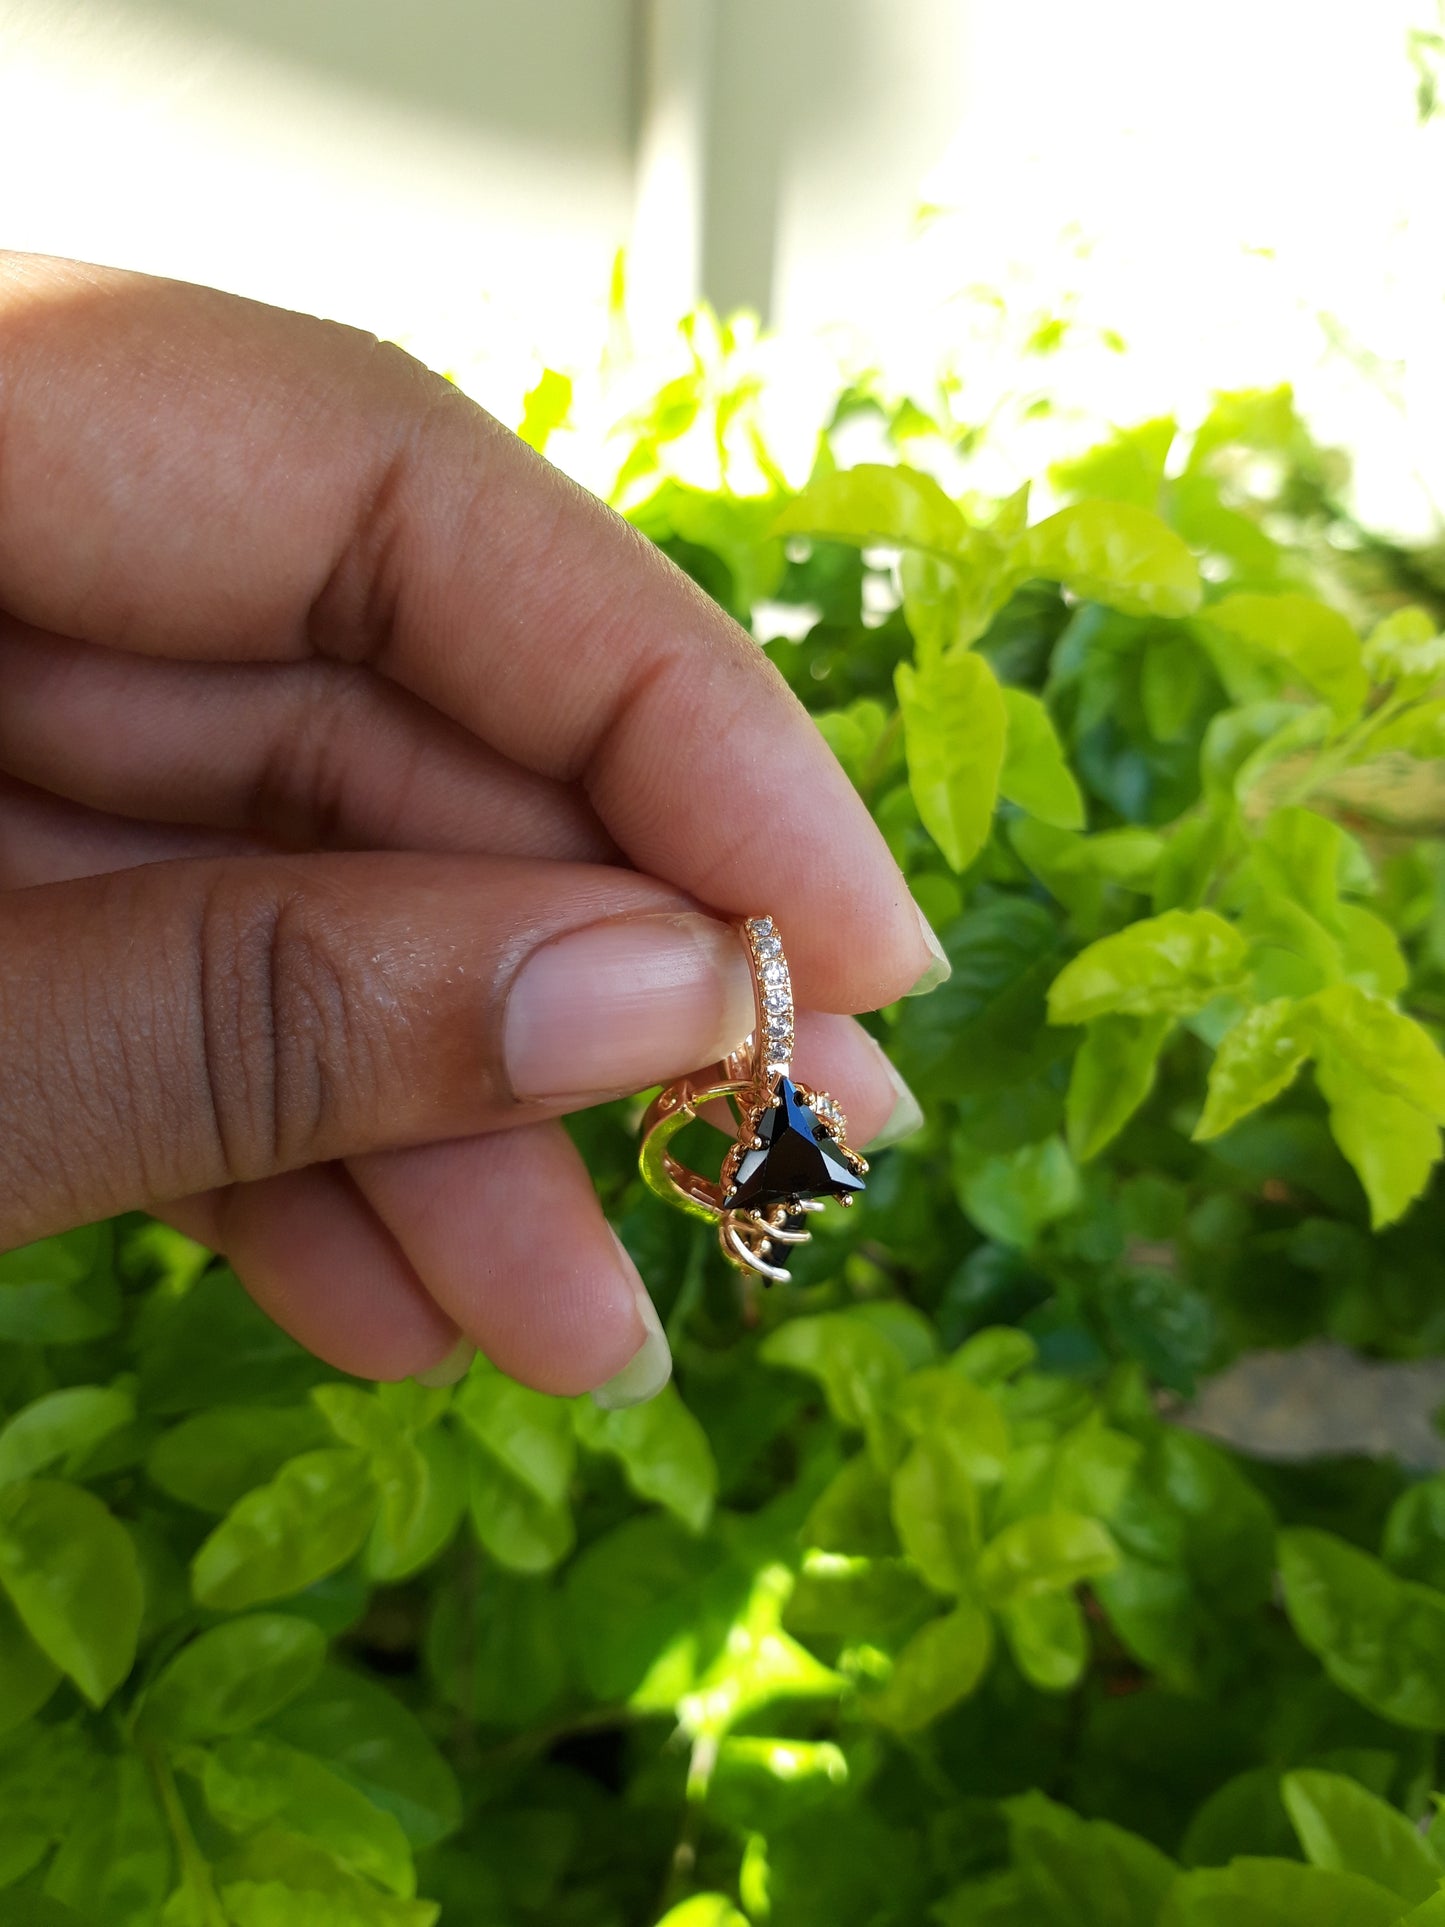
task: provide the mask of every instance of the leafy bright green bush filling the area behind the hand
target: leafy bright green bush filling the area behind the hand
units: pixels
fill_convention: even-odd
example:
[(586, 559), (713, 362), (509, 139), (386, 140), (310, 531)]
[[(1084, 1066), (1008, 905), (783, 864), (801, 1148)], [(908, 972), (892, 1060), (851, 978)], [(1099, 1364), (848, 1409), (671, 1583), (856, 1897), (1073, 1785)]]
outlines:
[(927, 1127), (759, 1299), (578, 1120), (678, 1359), (626, 1412), (345, 1382), (139, 1218), (0, 1258), (4, 1917), (1441, 1923), (1445, 1480), (1164, 1416), (1262, 1343), (1445, 1349), (1432, 570), (1285, 393), (1031, 520), (865, 389), (790, 488), (692, 343), (613, 493), (942, 931), (877, 1019)]

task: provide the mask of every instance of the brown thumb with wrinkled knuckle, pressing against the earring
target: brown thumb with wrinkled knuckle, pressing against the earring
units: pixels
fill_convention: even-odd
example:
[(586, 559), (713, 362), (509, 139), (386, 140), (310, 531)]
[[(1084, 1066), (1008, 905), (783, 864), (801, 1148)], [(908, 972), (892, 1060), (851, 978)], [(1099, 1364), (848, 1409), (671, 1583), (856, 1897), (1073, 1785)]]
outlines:
[(632, 871), (152, 863), (0, 898), (0, 1249), (709, 1064), (738, 935)]

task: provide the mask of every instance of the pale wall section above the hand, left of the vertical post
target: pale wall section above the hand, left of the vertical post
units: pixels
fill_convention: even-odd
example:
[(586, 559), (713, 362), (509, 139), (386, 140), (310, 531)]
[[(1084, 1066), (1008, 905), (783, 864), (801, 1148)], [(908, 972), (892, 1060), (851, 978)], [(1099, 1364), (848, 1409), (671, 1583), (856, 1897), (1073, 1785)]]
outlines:
[(0, 0), (0, 241), (426, 337), (590, 339), (632, 0)]

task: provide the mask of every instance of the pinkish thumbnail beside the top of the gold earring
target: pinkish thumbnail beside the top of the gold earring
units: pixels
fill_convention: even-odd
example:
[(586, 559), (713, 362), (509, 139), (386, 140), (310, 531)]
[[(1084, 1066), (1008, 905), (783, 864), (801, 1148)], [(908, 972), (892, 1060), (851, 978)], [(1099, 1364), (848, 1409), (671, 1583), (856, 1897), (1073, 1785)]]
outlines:
[(503, 1054), (520, 1098), (644, 1091), (711, 1064), (753, 1027), (742, 938), (696, 913), (613, 917), (522, 964)]

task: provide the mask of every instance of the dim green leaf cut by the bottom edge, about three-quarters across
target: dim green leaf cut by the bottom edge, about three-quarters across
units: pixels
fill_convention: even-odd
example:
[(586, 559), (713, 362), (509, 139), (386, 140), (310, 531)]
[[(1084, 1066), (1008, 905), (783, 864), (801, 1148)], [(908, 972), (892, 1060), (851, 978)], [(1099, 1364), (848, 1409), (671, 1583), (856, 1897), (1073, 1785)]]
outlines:
[(1156, 1846), (1038, 1792), (1010, 1800), (1006, 1813), (1040, 1927), (1154, 1927), (1177, 1875)]

